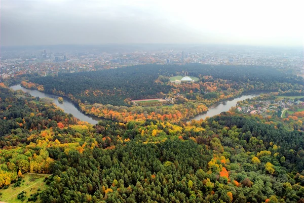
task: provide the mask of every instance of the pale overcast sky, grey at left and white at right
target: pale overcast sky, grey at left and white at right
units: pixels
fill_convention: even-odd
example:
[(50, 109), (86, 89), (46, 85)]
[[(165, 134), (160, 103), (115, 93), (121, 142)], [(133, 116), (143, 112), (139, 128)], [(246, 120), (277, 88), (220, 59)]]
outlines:
[(1, 46), (304, 46), (301, 0), (1, 0)]

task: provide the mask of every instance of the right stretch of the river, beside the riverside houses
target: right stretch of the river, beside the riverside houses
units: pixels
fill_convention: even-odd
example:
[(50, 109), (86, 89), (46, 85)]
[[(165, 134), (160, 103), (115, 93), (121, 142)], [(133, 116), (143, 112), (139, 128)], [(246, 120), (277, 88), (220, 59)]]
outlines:
[(238, 101), (251, 99), (251, 98), (257, 97), (259, 95), (260, 95), (260, 93), (253, 93), (253, 94), (248, 94), (248, 95), (242, 95), (242, 96), (234, 98), (232, 100), (218, 102), (216, 104), (211, 105), (208, 108), (208, 111), (206, 113), (198, 114), (194, 118), (191, 118), (190, 120), (200, 120), (200, 119), (205, 119), (206, 117), (212, 117), (212, 116), (218, 115), (221, 112), (229, 111), (229, 109), (231, 107), (234, 107), (237, 105)]

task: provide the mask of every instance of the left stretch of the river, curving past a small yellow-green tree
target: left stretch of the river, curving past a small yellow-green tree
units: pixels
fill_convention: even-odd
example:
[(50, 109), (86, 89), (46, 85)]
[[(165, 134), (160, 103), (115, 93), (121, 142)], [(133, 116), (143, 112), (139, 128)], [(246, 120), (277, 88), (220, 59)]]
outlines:
[(37, 90), (29, 90), (26, 88), (21, 87), (20, 85), (15, 85), (10, 87), (13, 90), (22, 90), (23, 92), (29, 93), (31, 96), (34, 97), (40, 97), (40, 98), (50, 98), (53, 100), (53, 102), (61, 109), (64, 110), (66, 113), (72, 114), (74, 117), (79, 118), (80, 120), (87, 121), (89, 124), (97, 124), (101, 118), (98, 118), (96, 116), (90, 116), (86, 115), (83, 113), (69, 98), (67, 97), (62, 97), (63, 98), (63, 103), (58, 102), (58, 97), (57, 95), (53, 94), (48, 94), (48, 93), (43, 93), (39, 92)]

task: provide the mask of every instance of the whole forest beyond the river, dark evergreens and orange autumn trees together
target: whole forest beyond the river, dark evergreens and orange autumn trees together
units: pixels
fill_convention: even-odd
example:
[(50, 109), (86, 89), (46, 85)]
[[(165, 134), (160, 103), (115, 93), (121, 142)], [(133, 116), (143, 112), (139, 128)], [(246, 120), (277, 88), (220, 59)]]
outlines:
[[(169, 82), (174, 75), (196, 76), (199, 81)], [(303, 78), (278, 69), (201, 64), (150, 64), (30, 77), (21, 82), (28, 89), (69, 97), (86, 114), (123, 123), (145, 119), (178, 123), (208, 111), (217, 102), (246, 92), (303, 95), (303, 84)], [(161, 98), (165, 102), (132, 102), (149, 98)]]

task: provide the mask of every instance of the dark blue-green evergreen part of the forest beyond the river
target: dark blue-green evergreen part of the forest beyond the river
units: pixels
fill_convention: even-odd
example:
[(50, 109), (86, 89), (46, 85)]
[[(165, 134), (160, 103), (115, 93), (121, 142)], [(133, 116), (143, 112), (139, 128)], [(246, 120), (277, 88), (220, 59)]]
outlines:
[[(171, 90), (169, 79), (157, 79), (162, 76), (190, 75), (205, 82), (204, 76), (214, 79), (232, 80), (250, 85), (263, 84), (271, 87), (274, 83), (303, 85), (303, 80), (286, 72), (260, 66), (211, 66), (201, 64), (188, 65), (138, 65), (125, 68), (93, 72), (62, 73), (58, 76), (35, 77), (29, 82), (44, 87), (44, 91), (90, 104), (101, 103), (115, 106), (129, 106), (125, 99), (159, 98)], [(287, 90), (287, 89), (286, 89)], [(283, 91), (286, 91), (283, 90)]]

